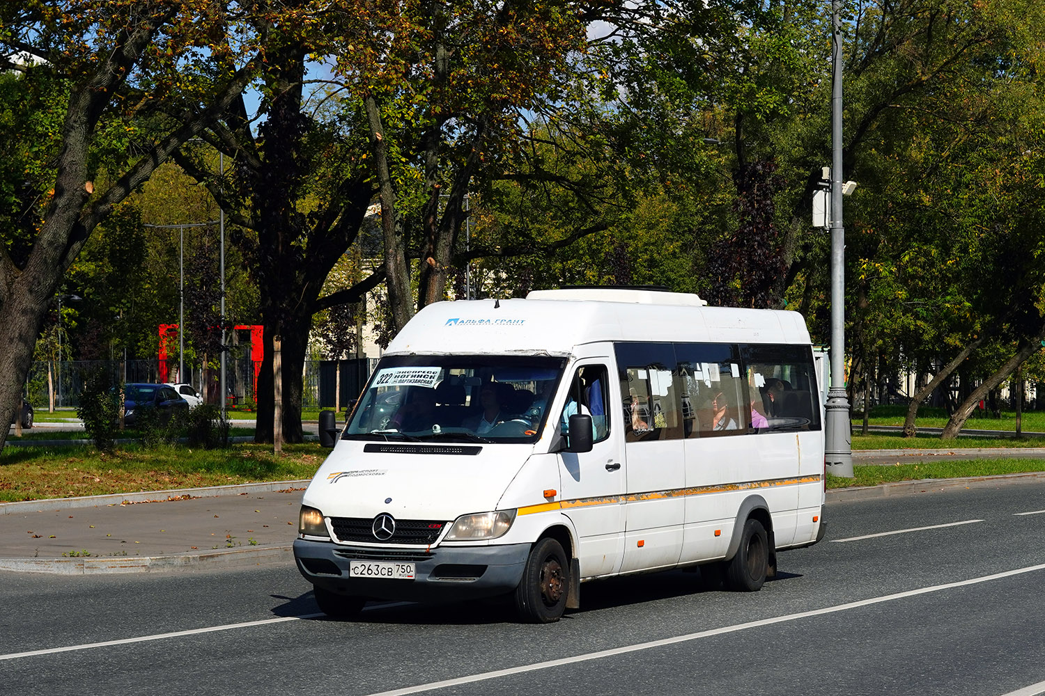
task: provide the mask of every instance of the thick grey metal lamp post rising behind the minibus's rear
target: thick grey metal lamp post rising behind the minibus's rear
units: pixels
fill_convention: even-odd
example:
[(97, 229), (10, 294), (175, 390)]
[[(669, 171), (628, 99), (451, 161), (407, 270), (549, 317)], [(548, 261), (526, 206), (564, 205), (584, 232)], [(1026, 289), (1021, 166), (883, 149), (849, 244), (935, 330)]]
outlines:
[(831, 389), (825, 407), (825, 465), (853, 477), (850, 403), (845, 395), (845, 229), (842, 225), (842, 39), (838, 10), (831, 0), (833, 79), (831, 95)]

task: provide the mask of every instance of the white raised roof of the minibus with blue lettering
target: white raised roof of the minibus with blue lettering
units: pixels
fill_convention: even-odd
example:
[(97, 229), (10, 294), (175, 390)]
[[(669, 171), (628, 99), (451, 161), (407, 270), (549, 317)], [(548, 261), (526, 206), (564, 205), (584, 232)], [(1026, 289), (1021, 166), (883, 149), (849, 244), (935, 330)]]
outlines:
[(705, 305), (695, 294), (619, 288), (441, 302), (418, 312), (386, 354), (570, 355), (598, 341), (810, 342), (797, 312)]

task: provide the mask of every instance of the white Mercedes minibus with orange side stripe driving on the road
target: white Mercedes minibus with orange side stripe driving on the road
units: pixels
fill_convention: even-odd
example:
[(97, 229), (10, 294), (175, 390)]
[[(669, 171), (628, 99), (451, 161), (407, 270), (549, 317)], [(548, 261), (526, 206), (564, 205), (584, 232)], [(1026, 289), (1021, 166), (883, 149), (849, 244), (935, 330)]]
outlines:
[(700, 567), (753, 592), (822, 536), (822, 405), (795, 312), (575, 288), (425, 307), (306, 489), (320, 609), (510, 595), (552, 622), (588, 580)]

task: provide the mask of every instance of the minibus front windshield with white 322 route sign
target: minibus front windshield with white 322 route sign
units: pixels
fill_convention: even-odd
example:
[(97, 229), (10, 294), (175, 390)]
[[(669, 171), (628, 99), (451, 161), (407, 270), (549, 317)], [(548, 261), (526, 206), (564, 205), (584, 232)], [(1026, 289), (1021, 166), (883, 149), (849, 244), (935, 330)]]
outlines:
[(342, 438), (535, 442), (565, 363), (550, 356), (386, 356)]

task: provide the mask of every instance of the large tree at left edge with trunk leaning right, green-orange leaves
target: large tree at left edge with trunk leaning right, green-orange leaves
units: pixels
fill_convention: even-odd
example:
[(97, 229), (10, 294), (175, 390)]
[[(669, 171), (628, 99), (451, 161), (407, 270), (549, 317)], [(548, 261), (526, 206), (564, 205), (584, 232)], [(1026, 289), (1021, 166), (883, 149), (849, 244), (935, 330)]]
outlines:
[[(212, 39), (215, 26), (235, 24), (241, 17), (236, 13), (252, 10), (275, 14), (186, 0), (30, 0), (0, 9), (0, 54), (41, 59), (19, 65), (5, 58), (0, 66), (21, 72), (24, 99), (14, 105), (17, 118), (32, 120), (41, 102), (55, 94), (63, 104), (54, 114), (61, 124), (48, 138), (5, 133), (23, 151), (36, 148), (40, 173), (31, 187), (46, 192), (28, 211), (31, 234), (18, 244), (5, 238), (0, 254), (0, 341), (7, 346), (0, 353), (0, 404), (7, 414), (14, 413), (47, 307), (91, 233), (226, 111), (263, 63), (264, 35), (243, 44)], [(301, 17), (295, 10), (283, 9), (284, 23)], [(229, 56), (231, 66), (203, 89), (196, 78), (216, 55)], [(176, 111), (177, 118), (164, 115)], [(0, 433), (0, 446), (5, 437)]]

